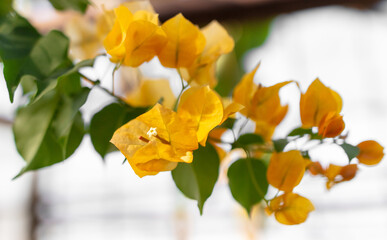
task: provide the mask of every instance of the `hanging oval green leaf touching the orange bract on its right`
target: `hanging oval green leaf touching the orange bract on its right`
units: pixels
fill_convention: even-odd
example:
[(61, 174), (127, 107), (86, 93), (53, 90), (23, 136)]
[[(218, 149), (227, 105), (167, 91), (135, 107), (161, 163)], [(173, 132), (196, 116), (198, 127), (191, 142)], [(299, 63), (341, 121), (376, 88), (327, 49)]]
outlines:
[(267, 193), (266, 170), (264, 163), (253, 158), (239, 159), (228, 169), (231, 194), (248, 213)]

